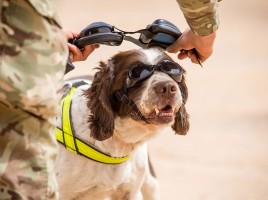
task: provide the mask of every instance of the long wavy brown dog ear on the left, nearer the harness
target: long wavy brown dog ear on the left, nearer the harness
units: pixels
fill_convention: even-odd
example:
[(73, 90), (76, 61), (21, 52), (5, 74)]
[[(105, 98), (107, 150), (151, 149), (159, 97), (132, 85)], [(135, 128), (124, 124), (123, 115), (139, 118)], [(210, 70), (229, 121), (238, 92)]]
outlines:
[(87, 106), (91, 111), (89, 129), (96, 140), (105, 140), (113, 135), (114, 112), (111, 105), (111, 88), (113, 81), (113, 65), (100, 62), (96, 68), (92, 85), (85, 95), (88, 96)]

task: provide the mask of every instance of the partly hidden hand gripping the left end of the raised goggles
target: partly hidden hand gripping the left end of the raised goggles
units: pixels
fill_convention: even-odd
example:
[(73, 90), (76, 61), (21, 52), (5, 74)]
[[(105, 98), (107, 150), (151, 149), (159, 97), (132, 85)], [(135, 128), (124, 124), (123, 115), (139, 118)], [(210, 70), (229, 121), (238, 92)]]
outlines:
[[(63, 31), (65, 32), (68, 40), (79, 36), (79, 33), (75, 31), (70, 30), (63, 30)], [(100, 46), (99, 44), (92, 44), (85, 46), (83, 49), (79, 49), (77, 46), (68, 43), (70, 59), (72, 62), (84, 61), (96, 48), (99, 48), (99, 46)]]

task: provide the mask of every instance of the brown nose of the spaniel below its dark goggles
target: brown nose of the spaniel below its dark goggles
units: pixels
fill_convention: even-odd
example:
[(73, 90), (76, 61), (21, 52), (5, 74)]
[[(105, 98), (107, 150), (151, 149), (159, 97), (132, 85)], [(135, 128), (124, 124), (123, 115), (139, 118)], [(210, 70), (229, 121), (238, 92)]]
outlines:
[(155, 92), (157, 95), (161, 95), (165, 98), (170, 98), (175, 95), (177, 86), (174, 82), (165, 81), (155, 85)]

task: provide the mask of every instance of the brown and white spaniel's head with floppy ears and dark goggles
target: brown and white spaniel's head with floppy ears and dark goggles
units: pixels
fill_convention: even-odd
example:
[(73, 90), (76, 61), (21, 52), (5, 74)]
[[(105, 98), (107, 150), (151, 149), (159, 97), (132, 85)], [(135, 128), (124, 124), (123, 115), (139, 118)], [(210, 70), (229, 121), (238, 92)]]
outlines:
[[(116, 117), (132, 118), (148, 126), (172, 126), (176, 134), (187, 133), (185, 70), (167, 54), (158, 49), (120, 52), (107, 63), (101, 62), (97, 70), (91, 88), (85, 92), (92, 137), (111, 137)], [(128, 102), (120, 101), (118, 92), (124, 92)]]

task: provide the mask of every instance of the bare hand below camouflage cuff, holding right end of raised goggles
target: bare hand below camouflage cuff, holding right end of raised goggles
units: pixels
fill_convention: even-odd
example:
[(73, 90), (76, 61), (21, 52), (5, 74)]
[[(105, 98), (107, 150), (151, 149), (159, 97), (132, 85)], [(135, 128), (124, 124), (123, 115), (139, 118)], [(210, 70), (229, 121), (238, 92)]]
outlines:
[(193, 63), (198, 64), (198, 58), (194, 54), (196, 49), (198, 57), (202, 62), (207, 60), (213, 53), (213, 44), (216, 38), (216, 32), (207, 36), (198, 36), (190, 29), (187, 29), (182, 35), (167, 48), (169, 53), (177, 53), (180, 60), (189, 57)]

